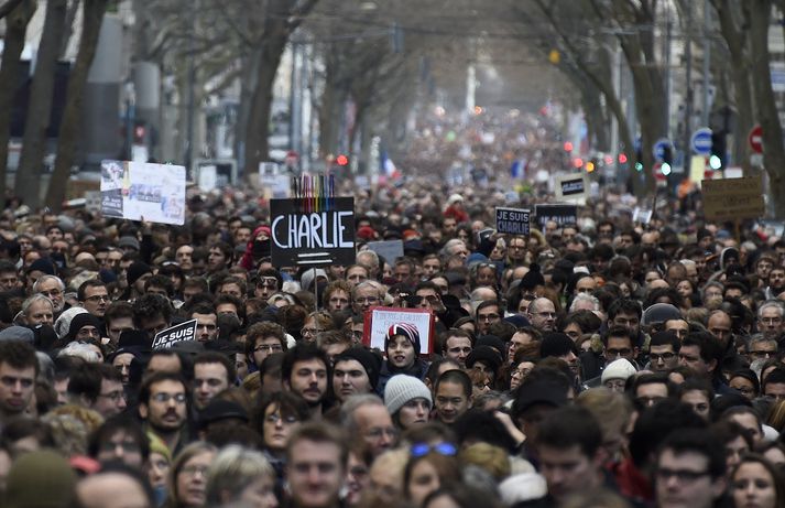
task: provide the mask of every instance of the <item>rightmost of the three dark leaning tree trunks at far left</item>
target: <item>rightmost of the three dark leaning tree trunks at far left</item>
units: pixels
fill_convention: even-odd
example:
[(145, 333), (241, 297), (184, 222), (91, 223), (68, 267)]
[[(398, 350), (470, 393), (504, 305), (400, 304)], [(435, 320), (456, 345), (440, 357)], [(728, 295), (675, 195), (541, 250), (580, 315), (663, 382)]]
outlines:
[(83, 7), (81, 39), (79, 54), (74, 63), (68, 79), (68, 95), (63, 112), (63, 122), (57, 142), (57, 160), (54, 173), (46, 193), (46, 205), (59, 212), (65, 199), (65, 186), (70, 174), (70, 167), (76, 159), (76, 147), (81, 130), (81, 110), (85, 96), (87, 75), (96, 56), (101, 22), (107, 10), (108, 0), (85, 0)]

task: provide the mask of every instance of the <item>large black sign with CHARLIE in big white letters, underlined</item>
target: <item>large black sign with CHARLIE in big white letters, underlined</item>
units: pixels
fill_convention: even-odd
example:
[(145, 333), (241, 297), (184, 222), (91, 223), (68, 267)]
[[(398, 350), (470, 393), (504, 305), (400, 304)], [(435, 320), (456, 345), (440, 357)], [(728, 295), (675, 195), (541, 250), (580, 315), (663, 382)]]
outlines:
[(271, 199), (276, 267), (355, 263), (355, 198)]

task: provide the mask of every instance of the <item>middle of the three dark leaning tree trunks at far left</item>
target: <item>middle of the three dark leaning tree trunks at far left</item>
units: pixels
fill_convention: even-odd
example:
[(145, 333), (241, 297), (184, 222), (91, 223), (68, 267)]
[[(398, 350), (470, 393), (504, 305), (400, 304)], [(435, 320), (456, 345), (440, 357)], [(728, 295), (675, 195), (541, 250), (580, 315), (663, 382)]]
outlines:
[(25, 203), (33, 208), (37, 208), (41, 203), (41, 166), (46, 149), (46, 129), (50, 127), (55, 68), (63, 41), (67, 4), (67, 0), (48, 0), (46, 3), (35, 74), (30, 87), (15, 194), (24, 196)]

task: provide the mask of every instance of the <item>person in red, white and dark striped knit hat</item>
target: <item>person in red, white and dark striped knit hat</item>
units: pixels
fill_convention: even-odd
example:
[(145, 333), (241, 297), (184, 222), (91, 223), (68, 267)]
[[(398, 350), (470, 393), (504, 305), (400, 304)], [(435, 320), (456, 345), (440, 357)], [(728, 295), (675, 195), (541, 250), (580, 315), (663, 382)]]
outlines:
[(386, 359), (382, 364), (377, 391), (384, 393), (388, 380), (396, 374), (405, 374), (423, 379), (428, 370), (428, 363), (418, 358), (419, 332), (410, 323), (396, 323), (390, 326), (384, 337)]

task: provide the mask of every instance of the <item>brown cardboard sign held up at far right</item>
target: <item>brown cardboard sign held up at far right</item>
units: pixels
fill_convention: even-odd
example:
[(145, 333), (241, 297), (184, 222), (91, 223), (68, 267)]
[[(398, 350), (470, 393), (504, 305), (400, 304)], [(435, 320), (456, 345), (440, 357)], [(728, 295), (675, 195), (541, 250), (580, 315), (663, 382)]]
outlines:
[(765, 214), (761, 175), (704, 180), (704, 215), (709, 220), (756, 218)]

